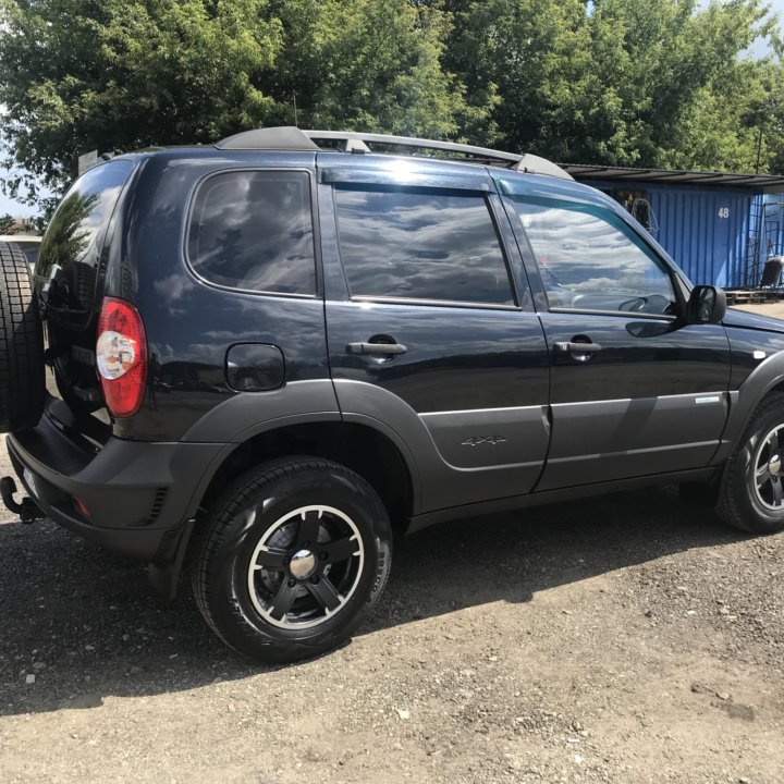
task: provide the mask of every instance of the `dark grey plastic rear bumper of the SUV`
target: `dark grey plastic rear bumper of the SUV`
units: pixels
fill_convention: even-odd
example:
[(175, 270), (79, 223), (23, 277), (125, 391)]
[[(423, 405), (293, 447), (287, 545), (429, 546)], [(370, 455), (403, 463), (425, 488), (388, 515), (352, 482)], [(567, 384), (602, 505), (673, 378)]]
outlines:
[(111, 438), (96, 450), (72, 439), (46, 414), (34, 429), (9, 436), (7, 443), (26, 491), (56, 523), (106, 550), (155, 563), (174, 559), (184, 524), (212, 476), (210, 467), (225, 449)]

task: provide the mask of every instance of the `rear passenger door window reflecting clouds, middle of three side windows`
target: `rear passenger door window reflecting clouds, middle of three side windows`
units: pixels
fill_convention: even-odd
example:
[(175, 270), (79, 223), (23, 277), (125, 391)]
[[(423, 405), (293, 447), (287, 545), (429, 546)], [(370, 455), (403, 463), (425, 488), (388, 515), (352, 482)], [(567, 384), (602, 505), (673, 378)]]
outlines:
[(338, 188), (340, 245), (354, 296), (513, 305), (481, 196)]

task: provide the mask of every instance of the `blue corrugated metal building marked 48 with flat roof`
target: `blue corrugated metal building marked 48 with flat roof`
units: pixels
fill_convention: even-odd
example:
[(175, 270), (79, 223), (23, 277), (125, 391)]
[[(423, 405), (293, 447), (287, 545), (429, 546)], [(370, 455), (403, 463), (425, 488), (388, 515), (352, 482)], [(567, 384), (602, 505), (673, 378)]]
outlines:
[(694, 283), (759, 285), (784, 255), (784, 176), (566, 164), (623, 204)]

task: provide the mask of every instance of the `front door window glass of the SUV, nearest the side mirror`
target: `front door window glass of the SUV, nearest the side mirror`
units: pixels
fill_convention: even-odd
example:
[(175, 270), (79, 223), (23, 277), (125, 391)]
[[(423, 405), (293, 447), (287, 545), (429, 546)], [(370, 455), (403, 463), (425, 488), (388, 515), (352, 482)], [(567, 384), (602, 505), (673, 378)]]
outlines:
[(593, 212), (516, 201), (550, 307), (674, 315), (670, 275), (640, 241)]

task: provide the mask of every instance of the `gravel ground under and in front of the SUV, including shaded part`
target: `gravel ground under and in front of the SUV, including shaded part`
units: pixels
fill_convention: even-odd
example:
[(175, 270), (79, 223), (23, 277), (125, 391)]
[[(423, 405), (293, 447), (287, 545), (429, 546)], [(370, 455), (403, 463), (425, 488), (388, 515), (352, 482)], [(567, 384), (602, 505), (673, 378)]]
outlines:
[(0, 782), (781, 784), (783, 563), (674, 488), (448, 524), (350, 645), (262, 667), (0, 524)]

